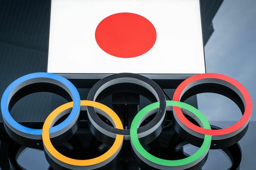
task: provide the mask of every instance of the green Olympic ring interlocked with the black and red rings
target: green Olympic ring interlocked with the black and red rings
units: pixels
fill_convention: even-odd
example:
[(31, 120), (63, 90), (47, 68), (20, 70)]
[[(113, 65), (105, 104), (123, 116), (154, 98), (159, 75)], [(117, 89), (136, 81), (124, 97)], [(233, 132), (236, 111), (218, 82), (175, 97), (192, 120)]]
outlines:
[[(166, 105), (177, 106), (177, 107), (181, 107), (186, 110), (189, 110), (201, 121), (203, 128), (205, 129), (211, 128), (205, 116), (203, 116), (203, 114), (199, 110), (195, 109), (193, 106), (182, 103), (182, 102), (177, 102), (177, 101), (166, 101)], [(159, 102), (155, 102), (141, 109), (140, 112), (137, 113), (137, 115), (133, 119), (132, 125), (131, 125), (131, 145), (132, 145), (133, 151), (135, 151), (136, 155), (140, 159), (142, 159), (145, 163), (157, 169), (182, 170), (182, 169), (187, 169), (195, 166), (207, 155), (210, 148), (210, 143), (212, 140), (211, 135), (205, 135), (205, 139), (202, 143), (202, 146), (196, 153), (194, 153), (190, 157), (180, 159), (180, 160), (166, 160), (166, 159), (157, 158), (151, 155), (150, 153), (148, 153), (140, 144), (139, 138), (137, 137), (137, 128), (139, 128), (142, 120), (145, 117), (147, 117), (148, 113), (154, 111), (156, 108), (159, 108)]]

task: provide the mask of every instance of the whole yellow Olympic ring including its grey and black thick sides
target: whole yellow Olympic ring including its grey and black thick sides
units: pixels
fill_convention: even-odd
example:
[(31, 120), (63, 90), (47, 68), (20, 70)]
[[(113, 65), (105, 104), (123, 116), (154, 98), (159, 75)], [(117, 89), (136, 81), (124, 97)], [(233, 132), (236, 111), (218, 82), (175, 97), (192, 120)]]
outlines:
[[(51, 143), (49, 129), (53, 124), (58, 120), (58, 118), (62, 117), (63, 115), (69, 113), (70, 108), (72, 108), (73, 102), (66, 103), (64, 105), (59, 106), (55, 109), (44, 122), (43, 125), (43, 145), (47, 155), (58, 165), (65, 167), (67, 169), (96, 169), (101, 166), (108, 164), (112, 161), (119, 151), (121, 150), (123, 144), (123, 135), (116, 134), (115, 142), (113, 143), (112, 147), (106, 153), (102, 154), (97, 158), (92, 158), (88, 160), (78, 160), (78, 159), (71, 159), (68, 158), (61, 153), (59, 153)], [(86, 107), (83, 106), (92, 106), (100, 109), (103, 112), (100, 112), (102, 115), (107, 115), (110, 120), (113, 121), (113, 125), (116, 128), (123, 129), (122, 122), (117, 114), (108, 108), (107, 106), (100, 104), (95, 101), (88, 101), (82, 100), (81, 101), (81, 110), (86, 110)], [(51, 165), (52, 166), (52, 165)]]

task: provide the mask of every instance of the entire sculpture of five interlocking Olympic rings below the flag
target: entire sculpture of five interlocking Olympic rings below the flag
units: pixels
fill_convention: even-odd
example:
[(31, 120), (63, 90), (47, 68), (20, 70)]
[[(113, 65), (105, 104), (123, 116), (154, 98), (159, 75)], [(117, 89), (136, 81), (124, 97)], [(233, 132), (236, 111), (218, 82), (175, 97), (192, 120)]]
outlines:
[[(113, 110), (96, 102), (103, 90), (110, 86), (113, 87), (113, 85), (126, 83), (136, 84), (147, 89), (147, 92), (152, 93), (158, 101), (146, 106), (136, 114), (130, 130), (123, 129), (120, 118)], [(66, 91), (65, 94), (63, 89)], [(71, 98), (73, 101), (55, 109), (47, 117), (43, 129), (26, 128), (11, 117), (9, 110), (20, 98), (38, 91), (54, 92), (68, 100)], [(183, 103), (186, 98), (203, 92), (219, 93), (229, 97), (243, 113), (241, 120), (229, 128), (211, 129), (209, 122), (199, 110)], [(225, 150), (227, 147), (231, 154), (239, 154), (240, 148), (238, 144), (236, 146), (236, 143), (246, 133), (252, 112), (249, 93), (239, 82), (220, 74), (198, 74), (183, 81), (175, 90), (173, 99), (174, 101), (166, 101), (163, 91), (149, 78), (139, 74), (119, 73), (98, 81), (90, 90), (88, 100), (80, 101), (77, 89), (66, 78), (52, 73), (32, 73), (18, 78), (7, 87), (1, 100), (1, 111), (5, 130), (11, 138), (21, 145), (34, 148), (42, 148), (41, 144), (43, 143), (47, 161), (54, 169), (96, 169), (113, 165), (112, 163), (117, 161), (124, 139), (131, 139), (132, 151), (135, 153), (136, 160), (140, 159), (146, 165), (157, 169), (201, 168), (209, 149)], [(193, 155), (179, 160), (157, 158), (142, 146), (158, 137), (163, 129), (165, 111), (172, 110), (172, 108), (173, 123), (177, 133), (186, 142), (200, 147)], [(80, 110), (88, 111), (89, 128), (99, 140), (107, 144), (108, 141), (114, 141), (110, 149), (99, 157), (78, 160), (66, 157), (54, 148), (55, 144), (66, 141), (75, 133), (80, 122)], [(53, 126), (59, 118), (68, 113), (70, 113), (69, 116), (63, 122)], [(97, 116), (97, 113), (107, 118), (113, 127), (105, 124)], [(156, 116), (148, 124), (139, 127), (148, 116), (154, 113)], [(186, 117), (183, 113), (186, 114)], [(190, 118), (200, 127), (191, 123)], [(241, 161), (240, 157), (237, 159), (237, 162), (240, 163), (239, 160)], [(233, 163), (234, 167), (239, 168), (239, 163)]]

